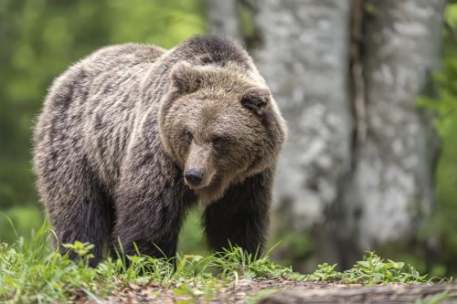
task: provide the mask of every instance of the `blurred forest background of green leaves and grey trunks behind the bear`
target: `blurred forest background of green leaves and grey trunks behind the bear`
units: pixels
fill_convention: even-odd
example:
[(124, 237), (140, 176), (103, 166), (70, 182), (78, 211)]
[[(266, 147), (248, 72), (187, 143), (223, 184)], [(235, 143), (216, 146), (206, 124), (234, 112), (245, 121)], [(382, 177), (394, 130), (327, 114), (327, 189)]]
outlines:
[[(52, 79), (105, 45), (173, 47), (212, 29), (248, 48), (291, 129), (274, 258), (311, 271), (370, 248), (456, 276), (457, 4), (445, 0), (1, 0), (0, 241), (44, 220), (30, 138)], [(200, 239), (197, 211), (179, 250), (203, 252)]]

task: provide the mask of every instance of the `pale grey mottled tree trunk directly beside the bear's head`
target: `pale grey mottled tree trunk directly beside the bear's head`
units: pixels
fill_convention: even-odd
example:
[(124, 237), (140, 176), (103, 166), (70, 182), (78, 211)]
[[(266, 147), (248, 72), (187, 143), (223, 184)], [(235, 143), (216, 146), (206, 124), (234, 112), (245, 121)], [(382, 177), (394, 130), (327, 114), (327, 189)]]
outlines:
[(303, 231), (314, 225), (319, 255), (327, 261), (337, 259), (337, 249), (331, 239), (335, 225), (324, 210), (335, 203), (351, 163), (350, 3), (260, 1), (254, 16), (260, 37), (254, 58), (290, 128), (276, 177), (275, 228)]

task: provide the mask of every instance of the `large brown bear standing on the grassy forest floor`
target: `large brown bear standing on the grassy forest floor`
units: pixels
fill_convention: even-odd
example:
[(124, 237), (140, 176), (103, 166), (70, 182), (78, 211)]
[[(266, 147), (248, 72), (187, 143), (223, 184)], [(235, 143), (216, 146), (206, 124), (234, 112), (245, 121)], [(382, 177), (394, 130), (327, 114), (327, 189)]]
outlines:
[(202, 201), (209, 246), (255, 252), (285, 137), (264, 79), (228, 37), (101, 48), (54, 81), (37, 119), (33, 163), (55, 246), (90, 242), (92, 266), (104, 247), (173, 257)]

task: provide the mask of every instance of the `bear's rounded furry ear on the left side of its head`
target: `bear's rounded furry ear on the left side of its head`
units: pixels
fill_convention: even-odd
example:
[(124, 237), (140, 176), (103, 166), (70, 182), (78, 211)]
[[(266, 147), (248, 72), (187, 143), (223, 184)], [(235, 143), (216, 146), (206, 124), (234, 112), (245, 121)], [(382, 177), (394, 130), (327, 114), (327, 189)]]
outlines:
[(176, 64), (171, 71), (172, 85), (182, 94), (195, 92), (201, 85), (201, 75), (186, 62)]

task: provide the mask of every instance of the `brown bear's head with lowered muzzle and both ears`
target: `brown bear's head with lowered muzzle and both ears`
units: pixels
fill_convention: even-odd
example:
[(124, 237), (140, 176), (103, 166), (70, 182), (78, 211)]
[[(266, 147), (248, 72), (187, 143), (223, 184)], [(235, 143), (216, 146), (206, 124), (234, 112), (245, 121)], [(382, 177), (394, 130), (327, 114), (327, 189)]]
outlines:
[(209, 203), (233, 183), (274, 167), (285, 123), (258, 74), (178, 63), (159, 111), (159, 130), (183, 179)]

